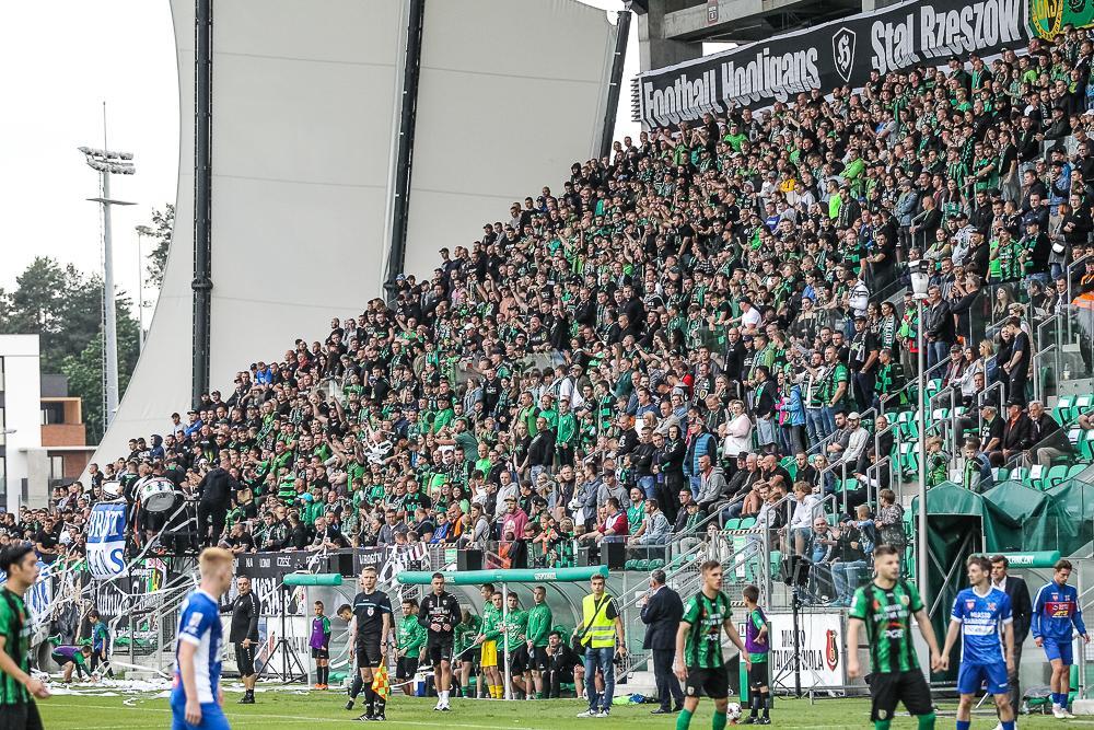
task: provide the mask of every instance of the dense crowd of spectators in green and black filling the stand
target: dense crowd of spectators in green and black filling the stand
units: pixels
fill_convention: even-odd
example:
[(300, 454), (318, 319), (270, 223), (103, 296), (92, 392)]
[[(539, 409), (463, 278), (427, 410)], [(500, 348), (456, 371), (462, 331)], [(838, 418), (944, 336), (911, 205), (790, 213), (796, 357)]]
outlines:
[[(136, 546), (166, 523), (167, 549), (500, 543), (560, 564), (686, 544), (709, 514), (818, 561), (903, 544), (887, 471), (836, 524), (818, 506), (842, 488), (826, 467), (866, 479), (892, 449), (871, 429), (910, 407), (918, 329), (959, 401), (1002, 382), (990, 405), (1021, 415), (1033, 315), (1094, 290), (1091, 34), (1025, 50), (615, 142), (0, 534), (79, 551), (104, 487), (136, 505), (162, 477), (200, 529), (135, 509)], [(900, 293), (920, 267), (922, 323)]]

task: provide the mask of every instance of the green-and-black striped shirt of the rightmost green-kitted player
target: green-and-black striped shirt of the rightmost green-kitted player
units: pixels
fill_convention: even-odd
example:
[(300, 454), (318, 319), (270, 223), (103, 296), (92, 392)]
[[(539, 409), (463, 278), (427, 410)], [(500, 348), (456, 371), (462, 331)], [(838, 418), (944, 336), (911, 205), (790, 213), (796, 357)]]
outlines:
[(849, 615), (866, 625), (871, 672), (919, 669), (911, 641), (911, 615), (922, 609), (919, 591), (903, 580), (889, 589), (870, 582), (854, 592)]

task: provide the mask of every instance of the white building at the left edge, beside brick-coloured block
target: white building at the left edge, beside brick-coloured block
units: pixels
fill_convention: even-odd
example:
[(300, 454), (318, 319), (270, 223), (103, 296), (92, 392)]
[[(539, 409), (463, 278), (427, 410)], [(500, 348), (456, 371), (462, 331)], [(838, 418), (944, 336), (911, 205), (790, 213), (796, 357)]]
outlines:
[(0, 335), (0, 507), (44, 507), (49, 457), (42, 448), (37, 335)]

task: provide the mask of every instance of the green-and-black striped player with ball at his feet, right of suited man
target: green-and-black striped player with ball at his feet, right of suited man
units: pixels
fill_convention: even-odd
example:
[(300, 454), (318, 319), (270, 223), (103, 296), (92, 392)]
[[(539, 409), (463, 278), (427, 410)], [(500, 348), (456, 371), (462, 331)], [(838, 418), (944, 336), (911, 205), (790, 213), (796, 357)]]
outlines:
[(731, 621), (730, 600), (722, 593), (722, 565), (707, 560), (702, 571), (702, 590), (684, 604), (684, 618), (676, 633), (676, 676), (686, 683), (684, 709), (676, 719), (676, 730), (687, 730), (699, 706), (699, 697), (714, 700), (713, 730), (725, 728), (725, 707), (730, 696), (730, 675), (722, 657), (722, 631), (749, 665), (744, 641)]

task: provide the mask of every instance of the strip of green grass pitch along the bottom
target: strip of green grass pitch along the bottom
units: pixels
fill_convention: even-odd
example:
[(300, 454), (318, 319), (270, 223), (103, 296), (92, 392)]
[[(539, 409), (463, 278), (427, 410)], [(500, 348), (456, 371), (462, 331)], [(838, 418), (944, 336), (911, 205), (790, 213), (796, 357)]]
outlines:
[[(361, 709), (347, 711), (346, 696), (338, 692), (311, 692), (294, 694), (269, 692), (258, 695), (256, 705), (237, 705), (238, 694), (225, 695), (225, 711), (233, 729), (295, 728), (323, 730), (338, 727), (438, 728), (439, 730), (578, 730), (584, 726), (604, 730), (627, 728), (676, 727), (676, 716), (651, 716), (653, 705), (615, 707), (607, 719), (578, 719), (584, 703), (577, 699), (550, 702), (491, 702), (453, 699), (451, 712), (435, 712), (435, 700), (395, 696), (387, 705), (387, 722), (351, 722)], [(732, 702), (732, 698), (731, 698)], [(360, 705), (359, 705), (360, 707)], [(39, 704), (46, 730), (161, 730), (171, 727), (171, 709), (166, 699), (130, 697), (98, 697), (60, 695)], [(941, 707), (936, 727), (952, 728), (954, 704)], [(711, 704), (703, 700), (691, 720), (691, 728), (710, 728)], [(864, 699), (777, 699), (772, 711), (772, 726), (778, 728), (812, 728), (815, 730), (871, 728), (868, 721), (869, 703)], [(974, 730), (990, 730), (996, 726), (993, 715), (978, 712), (973, 716)], [(1023, 730), (1061, 728), (1064, 726), (1094, 726), (1090, 719), (1055, 720), (1050, 716), (1031, 716), (1019, 719)], [(917, 727), (907, 716), (897, 717), (896, 729)]]

